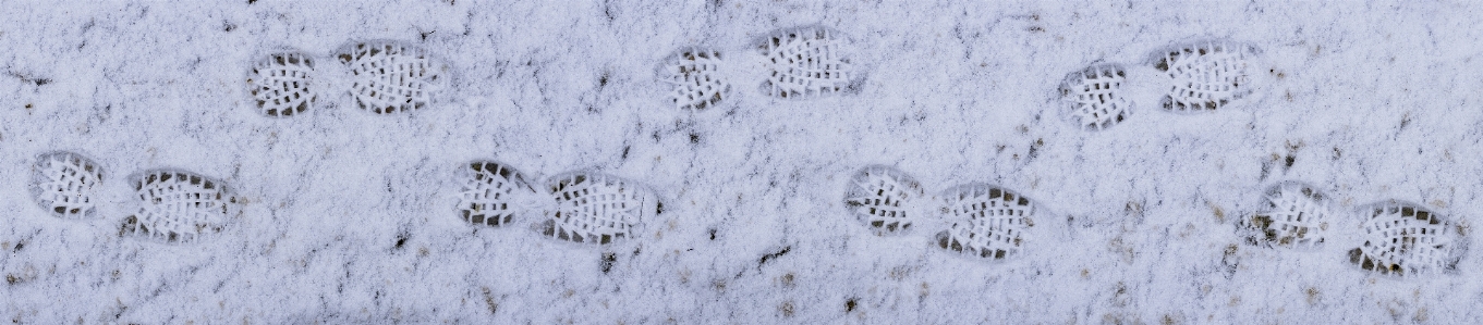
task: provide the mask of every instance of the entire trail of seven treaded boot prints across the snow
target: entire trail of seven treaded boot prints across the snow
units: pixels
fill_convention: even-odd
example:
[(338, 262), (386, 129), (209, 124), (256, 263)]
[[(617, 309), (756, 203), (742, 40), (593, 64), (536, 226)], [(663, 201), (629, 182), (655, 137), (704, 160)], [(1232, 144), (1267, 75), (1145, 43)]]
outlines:
[[(779, 30), (756, 41), (755, 65), (734, 62), (728, 52), (685, 47), (663, 59), (658, 81), (670, 89), (676, 109), (706, 109), (740, 93), (734, 84), (756, 84), (758, 93), (807, 99), (859, 90), (863, 71), (853, 62), (853, 43), (825, 27)], [(744, 53), (744, 52), (740, 52)], [(300, 52), (270, 53), (248, 75), (254, 106), (267, 117), (292, 117), (317, 109), (331, 93), (374, 114), (424, 109), (442, 100), (448, 65), (427, 50), (397, 41), (353, 41), (328, 59)], [(1250, 44), (1206, 40), (1169, 46), (1134, 68), (1157, 78), (1133, 80), (1129, 65), (1093, 64), (1060, 81), (1066, 118), (1100, 131), (1139, 111), (1130, 86), (1160, 92), (1169, 112), (1229, 108), (1261, 92), (1253, 78), (1261, 50)], [(744, 66), (762, 71), (742, 71)], [(746, 80), (747, 72), (755, 80)], [(1145, 83), (1145, 84), (1136, 84)], [(329, 92), (326, 92), (326, 89)], [(76, 152), (47, 152), (31, 167), (30, 194), (42, 210), (61, 219), (107, 219), (105, 168)], [(540, 236), (581, 244), (611, 244), (633, 238), (644, 222), (663, 211), (647, 186), (595, 171), (567, 171), (535, 182), (498, 161), (473, 161), (458, 168), (457, 216), (478, 228), (525, 228)], [(930, 194), (909, 174), (868, 165), (850, 177), (844, 204), (860, 225), (879, 236), (927, 236), (948, 253), (985, 260), (1023, 256), (1037, 245), (1029, 236), (1035, 201), (1014, 191), (965, 183)], [(129, 176), (133, 191), (120, 236), (157, 242), (191, 242), (218, 233), (240, 217), (240, 204), (221, 180), (184, 170), (147, 170)], [(1422, 275), (1456, 269), (1467, 251), (1464, 228), (1425, 207), (1387, 201), (1366, 205), (1360, 216), (1341, 216), (1329, 196), (1301, 182), (1281, 182), (1262, 194), (1264, 208), (1237, 228), (1249, 245), (1315, 250), (1329, 245), (1336, 225), (1360, 220), (1363, 244), (1348, 250), (1360, 270), (1382, 275)]]

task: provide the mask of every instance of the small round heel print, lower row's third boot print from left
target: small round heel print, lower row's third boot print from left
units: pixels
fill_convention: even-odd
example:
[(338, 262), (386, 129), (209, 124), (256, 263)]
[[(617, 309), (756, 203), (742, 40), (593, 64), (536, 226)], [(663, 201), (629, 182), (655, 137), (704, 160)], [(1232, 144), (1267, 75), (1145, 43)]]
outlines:
[(850, 177), (844, 204), (856, 219), (876, 235), (906, 233), (921, 223), (927, 211), (927, 191), (909, 174), (887, 167), (868, 165)]

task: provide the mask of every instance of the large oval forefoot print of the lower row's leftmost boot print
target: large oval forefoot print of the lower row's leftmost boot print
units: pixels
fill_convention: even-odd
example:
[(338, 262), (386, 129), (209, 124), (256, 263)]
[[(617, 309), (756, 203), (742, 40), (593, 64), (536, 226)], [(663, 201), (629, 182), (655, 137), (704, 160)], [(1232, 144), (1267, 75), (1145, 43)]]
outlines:
[(142, 204), (125, 219), (120, 235), (188, 242), (221, 232), (237, 199), (221, 182), (179, 170), (150, 170), (133, 177)]

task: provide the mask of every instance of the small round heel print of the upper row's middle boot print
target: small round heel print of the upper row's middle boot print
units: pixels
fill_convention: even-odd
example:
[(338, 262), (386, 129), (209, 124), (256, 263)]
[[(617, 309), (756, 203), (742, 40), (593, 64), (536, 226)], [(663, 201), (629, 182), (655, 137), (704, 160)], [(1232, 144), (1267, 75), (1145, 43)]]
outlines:
[(722, 65), (721, 52), (704, 49), (681, 50), (666, 61), (660, 78), (675, 87), (669, 93), (675, 108), (704, 109), (731, 98), (731, 84), (721, 74)]

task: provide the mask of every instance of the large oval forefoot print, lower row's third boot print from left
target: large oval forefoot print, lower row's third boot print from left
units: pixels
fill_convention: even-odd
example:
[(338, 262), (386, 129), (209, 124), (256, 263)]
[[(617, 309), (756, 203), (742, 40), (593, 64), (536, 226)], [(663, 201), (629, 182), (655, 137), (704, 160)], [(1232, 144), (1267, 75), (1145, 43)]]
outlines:
[(952, 228), (937, 233), (937, 247), (1003, 260), (1022, 254), (1025, 230), (1034, 226), (1035, 205), (1025, 196), (989, 186), (970, 183), (943, 191)]

